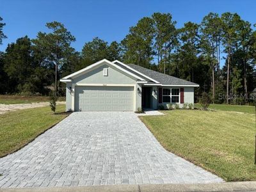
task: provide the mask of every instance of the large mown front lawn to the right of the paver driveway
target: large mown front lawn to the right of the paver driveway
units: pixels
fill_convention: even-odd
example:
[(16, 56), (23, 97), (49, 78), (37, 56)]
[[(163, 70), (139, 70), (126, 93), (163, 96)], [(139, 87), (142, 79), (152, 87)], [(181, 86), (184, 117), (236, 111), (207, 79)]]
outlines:
[(255, 115), (173, 110), (141, 120), (166, 150), (227, 181), (256, 180)]

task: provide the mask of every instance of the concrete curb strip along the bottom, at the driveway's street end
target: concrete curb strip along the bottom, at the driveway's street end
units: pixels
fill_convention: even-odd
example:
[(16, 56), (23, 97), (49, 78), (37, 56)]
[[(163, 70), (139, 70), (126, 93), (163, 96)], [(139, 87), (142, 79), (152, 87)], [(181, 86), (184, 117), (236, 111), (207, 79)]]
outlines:
[(77, 186), (62, 188), (16, 188), (16, 189), (0, 189), (0, 192), (31, 192), (31, 191), (76, 191), (76, 192), (167, 192), (167, 191), (255, 191), (256, 182), (221, 182), (211, 184), (140, 184), (140, 185), (114, 185), (114, 186)]

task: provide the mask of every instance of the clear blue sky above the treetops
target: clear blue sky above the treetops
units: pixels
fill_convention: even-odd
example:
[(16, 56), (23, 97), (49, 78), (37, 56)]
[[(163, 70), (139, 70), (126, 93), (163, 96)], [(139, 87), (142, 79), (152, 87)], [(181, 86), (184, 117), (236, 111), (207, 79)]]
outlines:
[(199, 23), (209, 12), (236, 12), (256, 23), (255, 0), (1, 0), (0, 10), (8, 36), (0, 51), (19, 37), (35, 38), (38, 31), (46, 31), (45, 23), (53, 20), (62, 22), (76, 36), (72, 46), (77, 51), (96, 36), (120, 42), (130, 26), (154, 12), (171, 13), (178, 28), (188, 21)]

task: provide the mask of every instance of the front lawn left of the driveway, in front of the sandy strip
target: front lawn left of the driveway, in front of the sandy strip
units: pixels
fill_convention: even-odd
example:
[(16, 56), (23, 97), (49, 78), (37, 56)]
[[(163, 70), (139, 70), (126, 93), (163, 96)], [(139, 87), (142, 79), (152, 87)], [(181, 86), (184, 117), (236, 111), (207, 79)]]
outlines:
[(53, 115), (49, 107), (24, 109), (0, 115), (0, 157), (6, 156), (67, 116), (65, 105), (57, 105)]

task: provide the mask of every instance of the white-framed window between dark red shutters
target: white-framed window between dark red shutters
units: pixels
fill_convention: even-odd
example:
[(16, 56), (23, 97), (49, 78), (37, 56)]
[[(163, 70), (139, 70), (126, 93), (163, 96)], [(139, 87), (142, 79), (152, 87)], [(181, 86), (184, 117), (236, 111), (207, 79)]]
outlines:
[(179, 88), (163, 88), (163, 102), (180, 102), (180, 89)]

